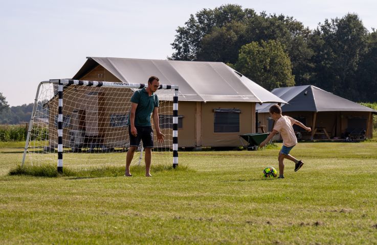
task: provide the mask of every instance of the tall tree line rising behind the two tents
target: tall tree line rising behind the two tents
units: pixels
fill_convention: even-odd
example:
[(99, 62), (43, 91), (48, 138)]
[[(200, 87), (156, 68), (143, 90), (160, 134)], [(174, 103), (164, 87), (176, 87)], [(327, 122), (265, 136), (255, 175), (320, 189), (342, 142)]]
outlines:
[(377, 101), (377, 32), (356, 13), (312, 30), (290, 16), (228, 4), (191, 14), (176, 29), (172, 60), (224, 62), (267, 90), (314, 85)]

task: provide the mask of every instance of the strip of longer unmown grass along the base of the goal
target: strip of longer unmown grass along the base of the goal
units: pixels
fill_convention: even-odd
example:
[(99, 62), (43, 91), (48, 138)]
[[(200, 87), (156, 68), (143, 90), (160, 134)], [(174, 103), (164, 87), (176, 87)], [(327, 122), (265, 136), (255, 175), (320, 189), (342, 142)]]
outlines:
[[(87, 167), (83, 169), (72, 169), (69, 167), (63, 168), (63, 173), (58, 173), (56, 166), (41, 165), (41, 166), (24, 166), (18, 165), (9, 171), (8, 175), (27, 175), (36, 177), (72, 177), (70, 179), (84, 179), (84, 178), (99, 178), (99, 177), (119, 177), (124, 176), (125, 168), (117, 166), (103, 166), (103, 167)], [(144, 166), (131, 166), (130, 171), (132, 174), (143, 175), (145, 173)], [(179, 165), (175, 169), (169, 165), (155, 165), (151, 166), (151, 172), (170, 172), (170, 173), (183, 173), (194, 172), (187, 166)]]

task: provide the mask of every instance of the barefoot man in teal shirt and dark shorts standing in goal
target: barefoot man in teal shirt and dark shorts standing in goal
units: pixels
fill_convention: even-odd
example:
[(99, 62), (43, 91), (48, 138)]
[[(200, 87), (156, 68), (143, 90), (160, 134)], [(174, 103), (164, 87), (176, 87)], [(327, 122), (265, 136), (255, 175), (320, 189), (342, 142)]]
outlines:
[(149, 173), (150, 161), (153, 148), (153, 129), (150, 124), (150, 114), (153, 113), (154, 129), (156, 129), (157, 140), (164, 142), (165, 135), (161, 133), (159, 126), (159, 98), (154, 92), (160, 86), (160, 79), (151, 76), (148, 79), (148, 87), (142, 88), (134, 93), (131, 97), (131, 111), (127, 121), (129, 133), (129, 149), (126, 157), (125, 176), (132, 176), (129, 172), (134, 153), (139, 147), (140, 140), (143, 141), (145, 150), (145, 176), (152, 176)]

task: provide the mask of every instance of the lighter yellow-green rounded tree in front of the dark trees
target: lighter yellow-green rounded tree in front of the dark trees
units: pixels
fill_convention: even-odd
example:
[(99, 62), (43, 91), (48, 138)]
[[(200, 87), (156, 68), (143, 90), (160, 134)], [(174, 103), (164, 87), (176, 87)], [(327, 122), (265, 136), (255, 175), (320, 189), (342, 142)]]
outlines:
[(242, 46), (235, 69), (267, 90), (295, 85), (290, 58), (275, 40)]

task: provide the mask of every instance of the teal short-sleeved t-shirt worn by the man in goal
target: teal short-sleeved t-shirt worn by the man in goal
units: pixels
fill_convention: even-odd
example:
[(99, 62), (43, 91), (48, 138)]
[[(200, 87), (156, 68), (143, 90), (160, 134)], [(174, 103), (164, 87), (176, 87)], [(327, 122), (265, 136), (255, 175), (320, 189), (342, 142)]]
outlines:
[[(131, 97), (131, 102), (138, 104), (135, 112), (135, 126), (151, 126), (150, 114), (153, 112), (154, 107), (159, 107), (157, 94), (152, 93), (152, 95), (149, 96), (145, 89), (146, 88), (142, 88), (136, 91)], [(129, 119), (128, 116), (127, 125), (131, 125)]]

